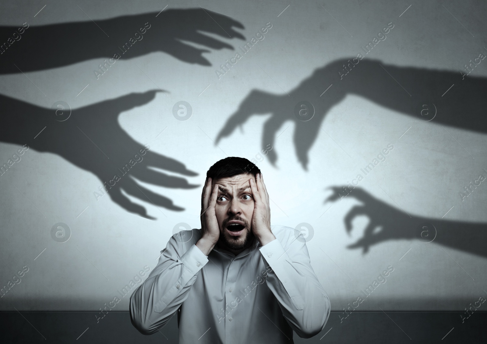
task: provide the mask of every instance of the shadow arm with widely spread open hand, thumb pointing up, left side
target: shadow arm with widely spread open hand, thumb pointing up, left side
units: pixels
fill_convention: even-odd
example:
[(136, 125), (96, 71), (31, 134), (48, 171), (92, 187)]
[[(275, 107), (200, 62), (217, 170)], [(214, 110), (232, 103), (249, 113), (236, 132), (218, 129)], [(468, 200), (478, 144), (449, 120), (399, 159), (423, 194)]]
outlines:
[[(101, 183), (99, 189), (90, 190), (90, 193), (97, 192), (101, 197), (108, 191), (110, 198), (129, 212), (153, 218), (147, 215), (144, 207), (123, 195), (122, 190), (156, 206), (182, 211), (184, 208), (174, 205), (171, 199), (150, 191), (136, 180), (188, 189), (199, 185), (154, 168), (185, 176), (196, 176), (197, 173), (175, 159), (154, 152), (150, 146), (136, 142), (118, 124), (120, 112), (149, 103), (156, 92), (130, 93), (73, 109), (69, 117), (66, 110), (56, 112), (0, 95), (0, 108), (4, 114), (0, 119), (0, 140), (57, 154), (92, 172)], [(0, 167), (3, 167), (2, 174), (9, 173), (8, 166)], [(98, 199), (97, 195), (94, 197)]]

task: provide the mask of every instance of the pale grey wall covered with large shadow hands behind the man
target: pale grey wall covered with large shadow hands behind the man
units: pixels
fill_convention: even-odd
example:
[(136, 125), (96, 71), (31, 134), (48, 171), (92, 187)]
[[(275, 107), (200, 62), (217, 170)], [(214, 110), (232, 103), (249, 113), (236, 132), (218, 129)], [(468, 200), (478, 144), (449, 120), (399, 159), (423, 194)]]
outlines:
[[(245, 39), (199, 6), (241, 22), (234, 29)], [(185, 8), (199, 11), (169, 12)], [(272, 223), (313, 227), (307, 246), (332, 310), (388, 266), (387, 282), (357, 310), (463, 310), (487, 297), (486, 181), (460, 194), (487, 177), (487, 60), (461, 74), (487, 54), (485, 14), (476, 1), (2, 2), (5, 40), (22, 23), (29, 28), (0, 55), (0, 163), (30, 148), (0, 177), (0, 284), (14, 285), (0, 309), (104, 307), (155, 267), (176, 224), (199, 228), (201, 190), (190, 186), (226, 156), (257, 161)], [(131, 17), (106, 20), (119, 16)], [(98, 65), (145, 22), (151, 27), (130, 58), (97, 78)], [(39, 29), (56, 23), (66, 26)], [(266, 23), (265, 38), (217, 76)], [(342, 59), (365, 54), (388, 23), (387, 38), (341, 77)], [(235, 50), (190, 42), (204, 28)], [(130, 95), (150, 90), (159, 92)], [(63, 122), (50, 110), (58, 101), (72, 109)], [(192, 107), (185, 121), (173, 116), (179, 101)], [(307, 122), (293, 114), (300, 101), (315, 108)], [(97, 197), (146, 144), (130, 176)], [(358, 174), (363, 180), (340, 198)], [(62, 243), (51, 235), (60, 222), (71, 230)], [(128, 296), (113, 310), (127, 309)]]

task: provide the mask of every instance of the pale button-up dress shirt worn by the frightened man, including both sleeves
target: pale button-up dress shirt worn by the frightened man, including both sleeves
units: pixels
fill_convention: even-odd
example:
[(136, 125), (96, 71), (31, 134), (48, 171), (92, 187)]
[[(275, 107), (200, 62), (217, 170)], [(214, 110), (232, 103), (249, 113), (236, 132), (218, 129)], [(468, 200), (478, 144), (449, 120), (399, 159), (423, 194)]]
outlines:
[[(195, 246), (201, 229), (172, 235), (159, 263), (131, 295), (132, 324), (152, 334), (178, 313), (179, 343), (294, 343), (318, 334), (330, 299), (300, 234), (272, 225), (276, 239), (254, 238), (238, 255)], [(257, 250), (258, 249), (258, 250)]]

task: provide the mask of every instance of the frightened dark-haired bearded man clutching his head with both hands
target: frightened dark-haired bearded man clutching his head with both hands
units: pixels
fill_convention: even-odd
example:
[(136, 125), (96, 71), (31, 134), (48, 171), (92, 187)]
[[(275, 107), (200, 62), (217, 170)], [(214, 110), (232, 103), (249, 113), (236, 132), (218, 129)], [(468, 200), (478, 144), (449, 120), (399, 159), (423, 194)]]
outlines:
[(131, 296), (132, 324), (152, 334), (178, 313), (179, 343), (294, 343), (330, 314), (306, 244), (270, 224), (260, 169), (228, 157), (206, 173), (201, 229), (173, 235)]

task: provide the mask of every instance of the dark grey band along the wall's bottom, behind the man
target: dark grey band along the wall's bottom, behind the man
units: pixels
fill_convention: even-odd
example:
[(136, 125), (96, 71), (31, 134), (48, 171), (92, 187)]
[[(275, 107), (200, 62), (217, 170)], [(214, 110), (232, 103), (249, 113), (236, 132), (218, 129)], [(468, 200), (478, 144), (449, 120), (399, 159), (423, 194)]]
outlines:
[[(487, 312), (468, 319), (461, 311), (332, 311), (321, 333), (310, 339), (294, 334), (300, 343), (487, 343)], [(150, 336), (131, 324), (128, 311), (99, 312), (2, 311), (2, 343), (178, 343), (177, 319)], [(272, 324), (271, 324), (272, 325)], [(45, 339), (44, 339), (45, 338)]]

